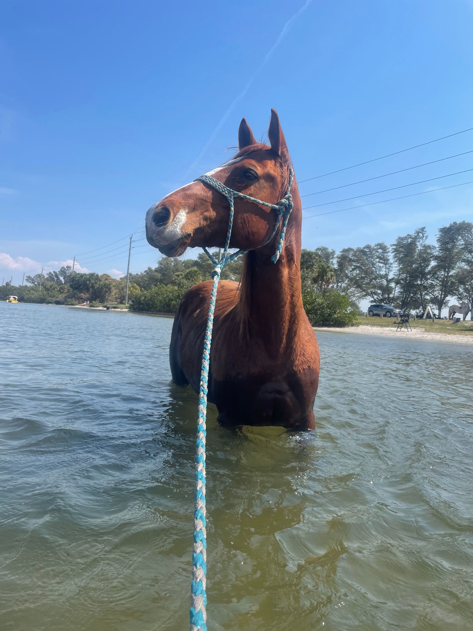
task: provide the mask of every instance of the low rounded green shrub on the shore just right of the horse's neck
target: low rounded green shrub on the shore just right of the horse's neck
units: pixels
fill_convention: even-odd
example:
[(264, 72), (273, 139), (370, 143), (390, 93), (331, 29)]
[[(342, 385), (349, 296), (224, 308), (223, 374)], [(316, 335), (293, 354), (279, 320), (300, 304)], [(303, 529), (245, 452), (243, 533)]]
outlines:
[(356, 326), (357, 313), (349, 311), (350, 300), (345, 294), (330, 289), (324, 294), (303, 289), (302, 302), (312, 326)]

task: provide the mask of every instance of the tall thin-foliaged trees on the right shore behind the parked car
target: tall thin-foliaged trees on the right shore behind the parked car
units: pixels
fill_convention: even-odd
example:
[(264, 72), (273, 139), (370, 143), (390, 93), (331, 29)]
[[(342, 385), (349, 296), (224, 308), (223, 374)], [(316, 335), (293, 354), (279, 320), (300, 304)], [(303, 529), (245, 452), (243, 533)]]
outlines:
[[(325, 283), (347, 294), (353, 305), (362, 298), (403, 310), (424, 311), (433, 305), (439, 315), (448, 297), (473, 305), (473, 223), (469, 221), (439, 228), (435, 244), (428, 243), (423, 227), (397, 237), (392, 245), (346, 247), (337, 255), (318, 247), (312, 255), (303, 252), (301, 268), (310, 267), (311, 256), (327, 266), (318, 268), (320, 287)], [(305, 274), (302, 269), (303, 278)]]

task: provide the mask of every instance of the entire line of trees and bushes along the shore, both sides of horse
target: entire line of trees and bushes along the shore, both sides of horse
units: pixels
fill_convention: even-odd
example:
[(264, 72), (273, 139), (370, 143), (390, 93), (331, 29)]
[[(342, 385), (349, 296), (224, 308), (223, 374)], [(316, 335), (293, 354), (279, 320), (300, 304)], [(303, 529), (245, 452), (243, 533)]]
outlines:
[[(222, 278), (238, 280), (241, 269), (237, 259), (223, 269)], [(197, 259), (163, 257), (155, 268), (130, 274), (131, 308), (173, 314), (187, 289), (209, 280), (212, 270), (203, 253)], [(73, 275), (70, 266), (45, 276), (26, 276), (26, 282), (24, 287), (0, 287), (0, 298), (15, 293), (24, 302), (66, 305), (125, 301), (125, 278)], [(454, 221), (440, 228), (435, 244), (428, 243), (425, 228), (418, 228), (392, 245), (346, 247), (338, 254), (325, 246), (303, 250), (301, 284), (305, 310), (318, 326), (354, 324), (362, 298), (404, 310), (423, 311), (433, 305), (441, 314), (449, 297), (473, 302), (473, 223)]]

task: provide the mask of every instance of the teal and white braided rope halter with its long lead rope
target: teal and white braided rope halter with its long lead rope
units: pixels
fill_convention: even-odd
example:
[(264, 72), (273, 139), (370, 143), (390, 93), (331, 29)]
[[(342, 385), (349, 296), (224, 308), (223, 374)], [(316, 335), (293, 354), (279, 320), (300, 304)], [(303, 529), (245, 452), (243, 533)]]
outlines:
[(277, 211), (277, 219), (274, 224), (271, 236), (258, 247), (269, 244), (276, 235), (277, 228), (281, 224), (279, 237), (277, 238), (276, 253), (271, 257), (271, 261), (276, 263), (283, 250), (284, 237), (286, 235), (286, 227), (288, 225), (289, 215), (293, 209), (293, 198), (291, 196), (291, 188), (294, 181), (294, 171), (289, 167), (289, 182), (286, 194), (277, 204), (269, 204), (261, 199), (252, 198), (238, 191), (229, 189), (228, 186), (219, 182), (219, 180), (209, 175), (201, 175), (194, 182), (204, 182), (209, 184), (216, 191), (225, 195), (230, 203), (230, 218), (228, 220), (228, 230), (226, 233), (225, 248), (221, 259), (215, 259), (207, 248), (203, 248), (209, 259), (214, 264), (212, 273), (213, 285), (210, 295), (209, 314), (207, 316), (207, 328), (204, 338), (204, 353), (202, 355), (201, 367), (201, 384), (199, 387), (199, 416), (197, 420), (197, 440), (196, 440), (196, 508), (194, 510), (194, 546), (192, 548), (192, 583), (190, 584), (190, 631), (207, 631), (207, 533), (206, 533), (206, 419), (207, 419), (207, 387), (209, 382), (209, 365), (210, 365), (210, 346), (212, 343), (212, 329), (214, 324), (215, 301), (217, 297), (217, 288), (220, 280), (220, 274), (226, 264), (234, 261), (240, 254), (246, 254), (248, 250), (238, 250), (228, 255), (228, 247), (230, 247), (231, 228), (233, 228), (233, 215), (235, 209), (233, 207), (233, 199), (235, 197), (247, 199), (255, 204), (262, 204), (267, 208), (273, 208)]

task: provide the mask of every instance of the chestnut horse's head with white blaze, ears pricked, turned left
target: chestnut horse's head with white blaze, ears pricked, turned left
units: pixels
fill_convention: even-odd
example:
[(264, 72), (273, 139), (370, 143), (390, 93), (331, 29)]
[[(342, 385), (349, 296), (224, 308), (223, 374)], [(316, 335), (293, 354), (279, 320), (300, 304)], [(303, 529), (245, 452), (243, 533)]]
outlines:
[[(237, 155), (206, 175), (234, 191), (275, 204), (288, 186), (289, 152), (274, 110), (268, 137), (271, 146), (257, 143), (243, 119)], [(223, 247), (229, 212), (225, 196), (203, 182), (191, 182), (149, 208), (146, 239), (166, 256), (179, 256), (187, 247)], [(274, 209), (235, 198), (230, 247), (252, 249), (264, 243), (276, 217)]]

